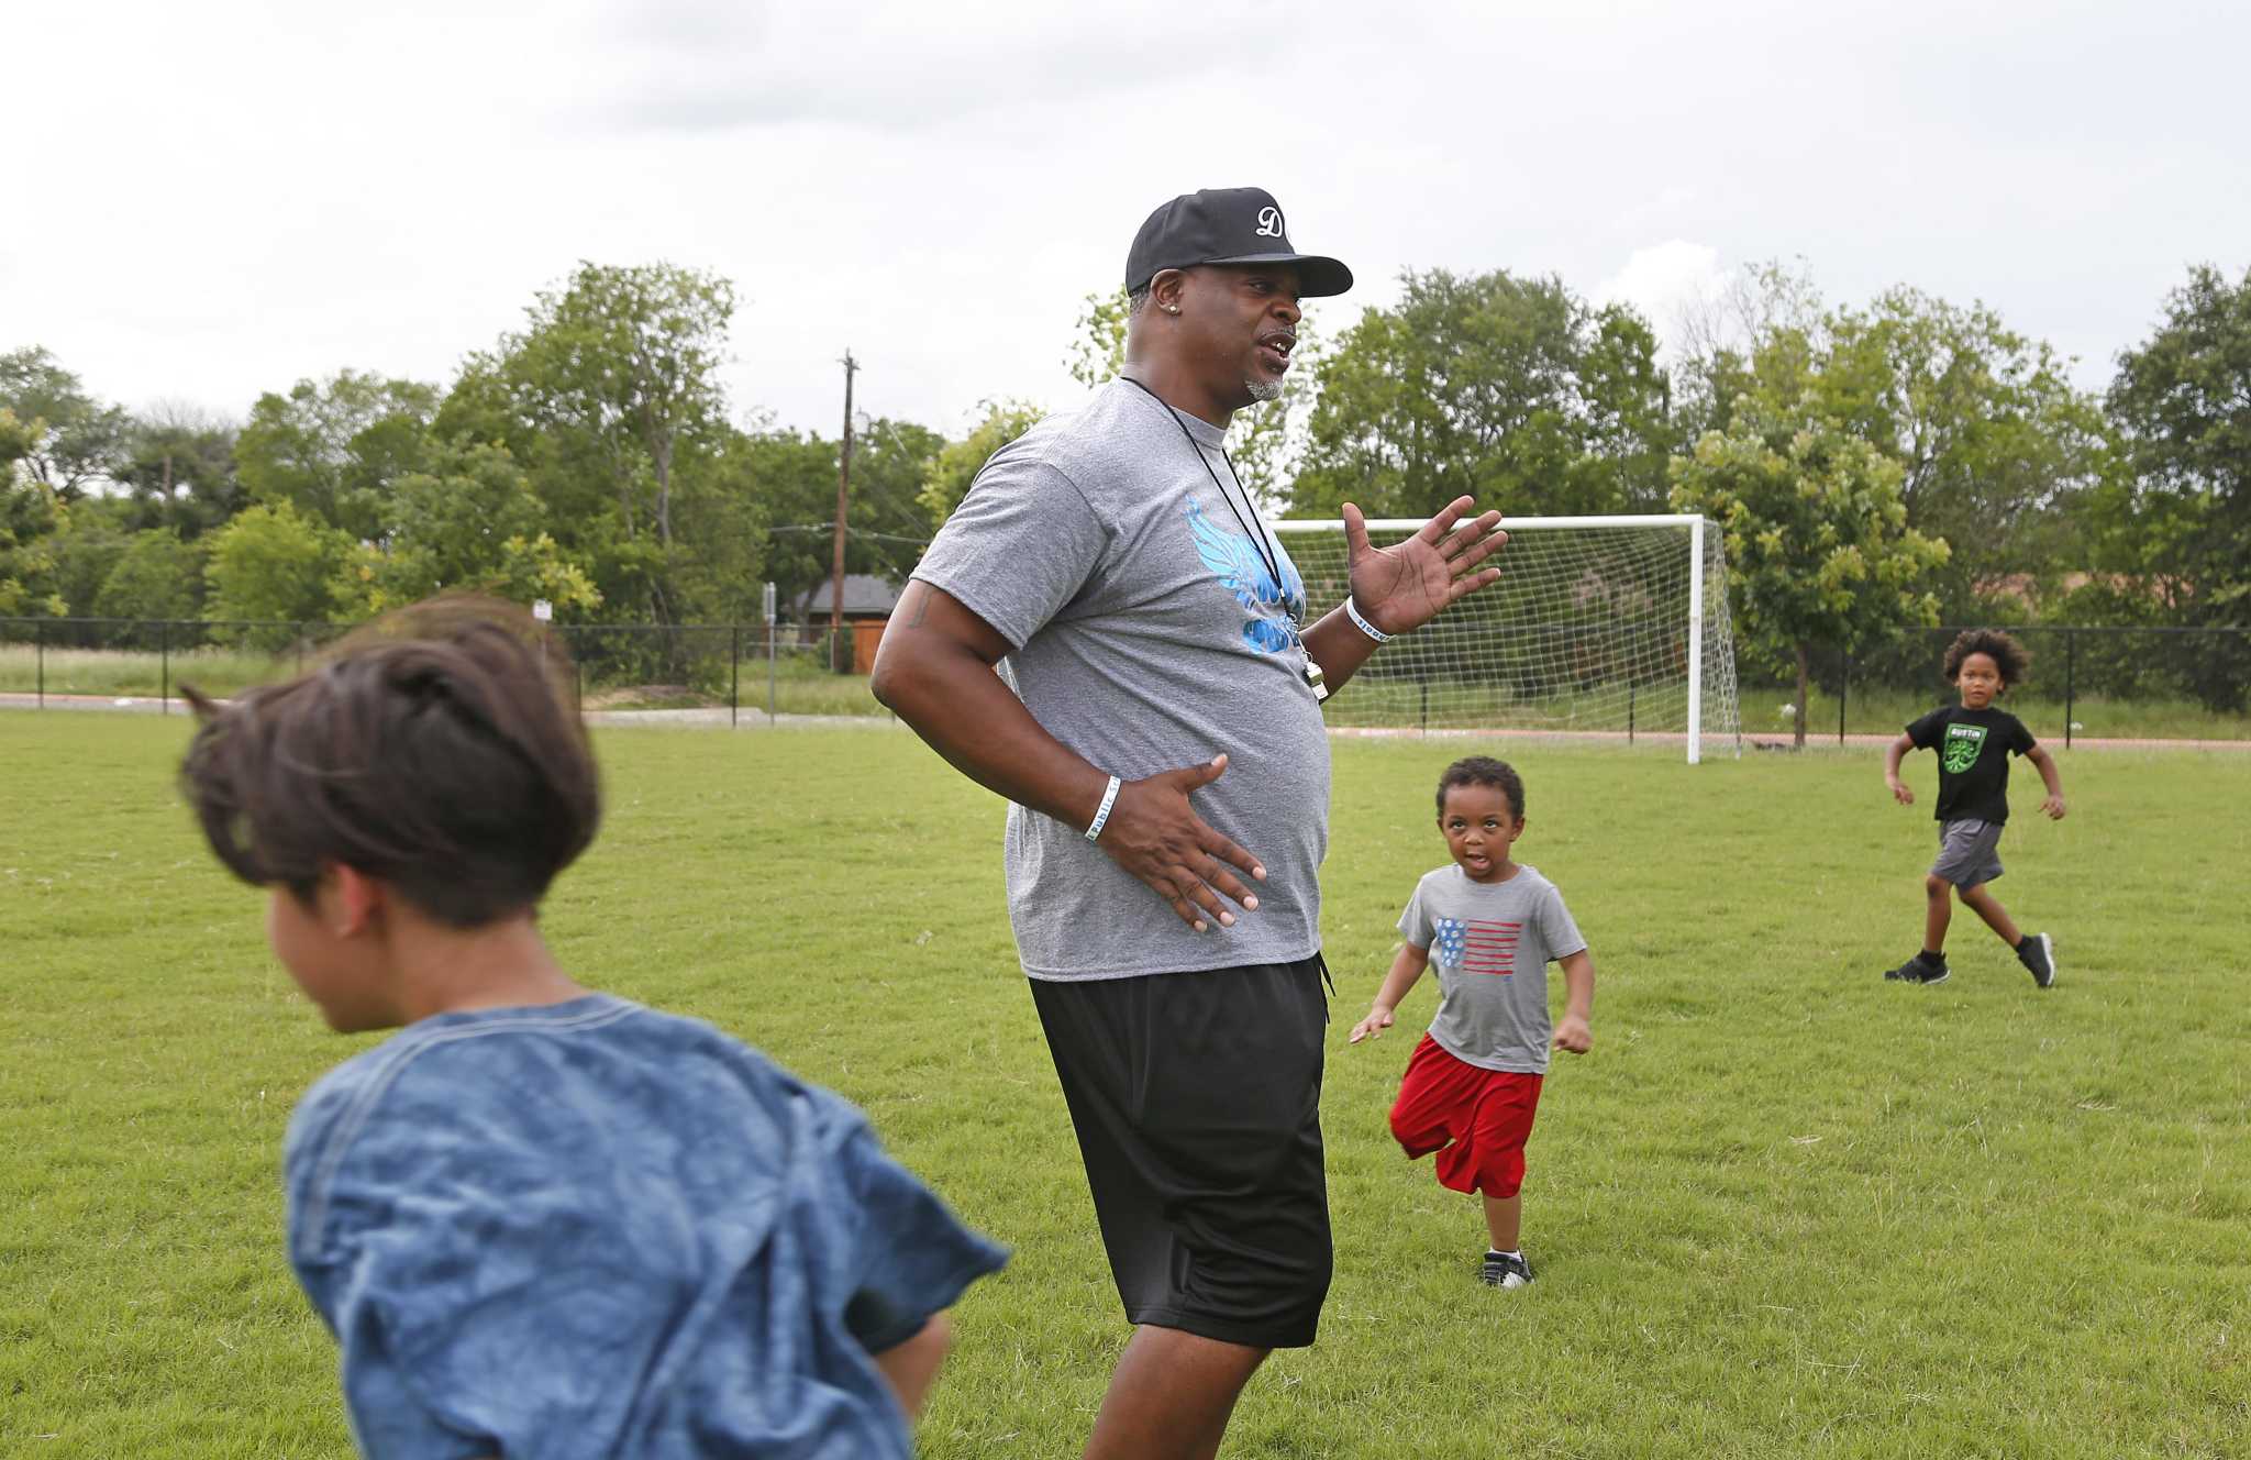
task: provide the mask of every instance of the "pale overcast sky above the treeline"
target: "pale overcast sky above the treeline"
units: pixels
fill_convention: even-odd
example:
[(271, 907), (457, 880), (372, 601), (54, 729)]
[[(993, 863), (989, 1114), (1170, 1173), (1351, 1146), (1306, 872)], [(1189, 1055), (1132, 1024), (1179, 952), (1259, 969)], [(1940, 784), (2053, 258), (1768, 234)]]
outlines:
[(1360, 288), (1553, 273), (1659, 329), (1722, 270), (1983, 300), (2100, 388), (2192, 261), (2251, 264), (2240, 5), (11, 7), (0, 349), (241, 417), (446, 383), (579, 259), (727, 275), (738, 415), (959, 433), (1076, 399), (1162, 201), (1274, 192)]

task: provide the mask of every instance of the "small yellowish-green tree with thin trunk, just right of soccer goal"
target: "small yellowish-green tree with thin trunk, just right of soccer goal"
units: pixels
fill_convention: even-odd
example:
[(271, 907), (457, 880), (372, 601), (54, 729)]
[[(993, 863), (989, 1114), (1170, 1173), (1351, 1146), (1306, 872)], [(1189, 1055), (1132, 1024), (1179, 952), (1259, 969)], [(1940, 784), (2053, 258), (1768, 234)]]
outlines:
[(1736, 403), (1672, 462), (1672, 509), (1702, 511), (1727, 541), (1729, 611), (1756, 653), (1796, 667), (1805, 744), (1810, 651), (1855, 651), (1904, 624), (1936, 624), (1925, 575), (1947, 545), (1907, 525), (1900, 464), (1812, 408), (1812, 394)]

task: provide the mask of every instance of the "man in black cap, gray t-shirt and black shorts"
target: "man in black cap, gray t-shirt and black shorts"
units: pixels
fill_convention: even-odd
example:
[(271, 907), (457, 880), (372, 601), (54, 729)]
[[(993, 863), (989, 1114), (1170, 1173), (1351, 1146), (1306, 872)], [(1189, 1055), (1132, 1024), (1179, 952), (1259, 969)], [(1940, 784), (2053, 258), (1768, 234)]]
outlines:
[(1378, 550), (1346, 505), (1351, 597), (1306, 624), (1225, 433), (1281, 392), (1299, 300), (1351, 284), (1256, 187), (1150, 214), (1126, 255), (1126, 370), (986, 462), (876, 658), (876, 696), (1013, 802), (1017, 953), (1137, 1325), (1098, 1460), (1209, 1458), (1265, 1354), (1312, 1343), (1321, 698), (1495, 581), (1481, 563), (1508, 536), (1459, 498)]

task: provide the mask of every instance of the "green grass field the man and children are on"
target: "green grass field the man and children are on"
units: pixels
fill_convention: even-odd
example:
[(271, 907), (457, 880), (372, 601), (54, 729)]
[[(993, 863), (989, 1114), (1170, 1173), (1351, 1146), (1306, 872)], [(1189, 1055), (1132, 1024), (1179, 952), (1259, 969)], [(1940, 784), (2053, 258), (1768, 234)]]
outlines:
[[(0, 712), (0, 1455), (349, 1453), (277, 1160), (369, 1041), (322, 1030), (203, 854), (185, 732)], [(907, 735), (599, 746), (608, 829), (545, 919), (565, 962), (862, 1102), (1008, 1241), (923, 1451), (1076, 1453), (1126, 1327), (1013, 969), (999, 804)], [(2251, 759), (2069, 755), (2053, 825), (2019, 771), (1999, 892), (2057, 935), (2042, 994), (1967, 915), (1952, 982), (1877, 978), (1934, 834), (1871, 755), (1504, 750), (1598, 996), (1531, 1145), (1540, 1282), (1495, 1293), (1474, 1203), (1384, 1131), (1429, 985), (1344, 1048), (1465, 750), (1335, 746), (1337, 1282), (1225, 1455), (2251, 1453)]]

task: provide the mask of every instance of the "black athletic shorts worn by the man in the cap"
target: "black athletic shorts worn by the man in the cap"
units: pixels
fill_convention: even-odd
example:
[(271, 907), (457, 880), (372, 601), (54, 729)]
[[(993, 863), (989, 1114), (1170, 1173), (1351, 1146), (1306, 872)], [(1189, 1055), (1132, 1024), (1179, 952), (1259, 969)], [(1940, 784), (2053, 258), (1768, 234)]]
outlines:
[(1321, 955), (1031, 980), (1128, 1323), (1306, 1347), (1328, 1296)]

